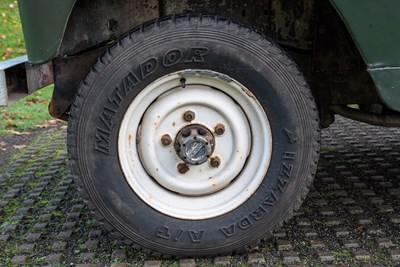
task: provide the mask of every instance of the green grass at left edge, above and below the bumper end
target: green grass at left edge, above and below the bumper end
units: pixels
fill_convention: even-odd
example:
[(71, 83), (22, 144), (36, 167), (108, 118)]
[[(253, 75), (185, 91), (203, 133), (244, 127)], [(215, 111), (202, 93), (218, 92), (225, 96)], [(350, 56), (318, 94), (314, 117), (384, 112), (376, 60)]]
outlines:
[[(0, 61), (26, 54), (17, 1), (0, 0), (0, 19)], [(52, 91), (53, 86), (48, 86), (8, 107), (0, 107), (0, 136), (55, 124), (47, 109)]]

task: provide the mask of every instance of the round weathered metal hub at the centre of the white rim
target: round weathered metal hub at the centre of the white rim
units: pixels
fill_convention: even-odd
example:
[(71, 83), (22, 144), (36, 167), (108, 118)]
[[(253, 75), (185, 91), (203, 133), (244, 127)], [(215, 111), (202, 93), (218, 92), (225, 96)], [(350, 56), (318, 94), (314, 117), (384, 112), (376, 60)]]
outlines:
[(188, 125), (177, 134), (174, 147), (184, 162), (200, 165), (214, 152), (215, 139), (207, 127), (200, 124)]

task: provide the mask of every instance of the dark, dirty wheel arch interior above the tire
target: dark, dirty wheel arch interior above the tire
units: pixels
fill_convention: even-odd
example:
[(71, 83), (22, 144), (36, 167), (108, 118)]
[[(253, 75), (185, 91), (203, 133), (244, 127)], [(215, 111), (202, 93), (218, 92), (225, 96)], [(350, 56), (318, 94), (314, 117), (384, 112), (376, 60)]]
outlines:
[[(365, 62), (331, 0), (131, 0), (124, 5), (118, 0), (98, 0), (95, 6), (90, 0), (77, 0), (53, 59), (56, 87), (50, 114), (61, 118), (68, 113), (79, 83), (108, 44), (147, 21), (188, 12), (217, 14), (252, 25), (283, 47), (311, 84), (324, 126), (333, 122), (333, 116), (323, 107), (380, 102)], [(319, 34), (324, 27), (333, 29), (335, 37)], [(338, 64), (345, 65), (344, 72), (335, 68)]]

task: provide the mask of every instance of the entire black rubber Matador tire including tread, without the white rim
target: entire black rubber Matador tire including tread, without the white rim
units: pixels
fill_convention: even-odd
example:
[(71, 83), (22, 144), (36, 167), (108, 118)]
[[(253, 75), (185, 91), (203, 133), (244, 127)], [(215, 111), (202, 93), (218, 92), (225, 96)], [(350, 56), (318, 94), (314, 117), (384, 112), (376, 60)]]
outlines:
[[(205, 47), (207, 53), (198, 60), (186, 56), (173, 66), (162, 64), (171, 49), (190, 55), (193, 47)], [(121, 91), (117, 105), (111, 99), (115, 88), (149, 58), (161, 63), (132, 90)], [(272, 159), (262, 185), (243, 205), (212, 219), (182, 220), (152, 209), (129, 187), (118, 161), (118, 130), (128, 105), (155, 79), (183, 69), (218, 71), (245, 85), (265, 109), (272, 129)], [(102, 117), (105, 106), (115, 113)], [(138, 249), (174, 257), (240, 252), (268, 237), (305, 198), (317, 169), (319, 140), (310, 89), (283, 50), (250, 27), (201, 15), (158, 19), (115, 42), (82, 83), (68, 126), (72, 171), (97, 217)], [(100, 149), (96, 142), (103, 142)], [(157, 235), (161, 230), (164, 238)]]

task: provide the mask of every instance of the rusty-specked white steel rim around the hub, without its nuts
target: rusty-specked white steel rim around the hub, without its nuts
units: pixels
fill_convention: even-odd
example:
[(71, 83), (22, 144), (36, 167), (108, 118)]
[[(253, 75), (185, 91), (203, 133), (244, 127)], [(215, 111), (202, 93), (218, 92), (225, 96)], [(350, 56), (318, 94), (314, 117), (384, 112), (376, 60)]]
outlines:
[[(182, 117), (188, 110), (195, 113), (190, 122)], [(221, 159), (220, 166), (188, 164), (189, 171), (179, 173), (183, 160), (161, 137), (175, 139), (191, 124), (214, 132), (217, 123), (226, 127), (221, 136), (214, 133), (212, 157)], [(243, 204), (263, 181), (271, 154), (261, 104), (239, 82), (213, 71), (185, 70), (152, 82), (128, 107), (118, 135), (121, 169), (132, 190), (153, 209), (180, 219), (214, 218)]]

